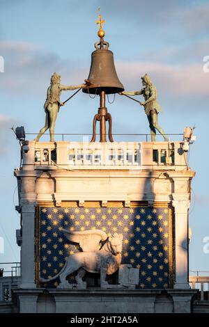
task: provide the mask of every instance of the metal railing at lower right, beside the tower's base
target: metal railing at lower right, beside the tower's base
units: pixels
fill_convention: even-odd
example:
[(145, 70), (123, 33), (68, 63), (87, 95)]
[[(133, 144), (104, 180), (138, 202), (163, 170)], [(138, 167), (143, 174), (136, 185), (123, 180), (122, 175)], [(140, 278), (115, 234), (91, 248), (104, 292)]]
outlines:
[[(197, 299), (200, 301), (209, 301), (209, 271), (191, 271), (196, 276), (189, 276), (189, 284), (192, 289), (199, 289)], [(202, 274), (207, 274), (203, 276)]]

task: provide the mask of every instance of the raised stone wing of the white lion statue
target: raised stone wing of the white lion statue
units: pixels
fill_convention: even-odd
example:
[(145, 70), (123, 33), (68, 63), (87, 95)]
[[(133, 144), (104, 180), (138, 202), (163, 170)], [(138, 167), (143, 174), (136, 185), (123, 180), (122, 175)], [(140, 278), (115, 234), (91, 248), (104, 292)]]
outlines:
[(83, 232), (70, 232), (62, 229), (63, 234), (71, 242), (78, 243), (84, 252), (94, 252), (99, 249), (100, 241), (107, 239), (103, 230), (84, 230)]

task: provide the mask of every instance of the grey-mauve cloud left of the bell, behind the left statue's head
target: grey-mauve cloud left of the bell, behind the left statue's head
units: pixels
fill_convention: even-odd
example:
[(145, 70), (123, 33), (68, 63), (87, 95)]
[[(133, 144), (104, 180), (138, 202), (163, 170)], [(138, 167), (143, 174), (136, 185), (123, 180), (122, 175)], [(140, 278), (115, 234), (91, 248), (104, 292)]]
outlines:
[[(62, 60), (56, 53), (45, 53), (29, 42), (0, 41), (5, 72), (1, 74), (0, 89), (24, 96), (37, 95), (49, 85), (53, 72), (63, 77), (63, 83), (81, 83), (88, 68), (79, 61)], [(67, 81), (67, 82), (66, 82)]]

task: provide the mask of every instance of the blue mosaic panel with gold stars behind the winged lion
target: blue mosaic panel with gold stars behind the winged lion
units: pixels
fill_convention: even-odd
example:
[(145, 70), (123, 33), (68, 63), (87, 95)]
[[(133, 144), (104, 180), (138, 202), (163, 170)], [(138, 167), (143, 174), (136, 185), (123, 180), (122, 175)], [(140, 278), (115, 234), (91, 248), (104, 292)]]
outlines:
[[(78, 252), (61, 228), (103, 230), (123, 234), (122, 263), (139, 269), (139, 288), (171, 287), (171, 226), (168, 208), (40, 207), (40, 277), (61, 271), (69, 255)], [(45, 283), (56, 287), (59, 278)]]

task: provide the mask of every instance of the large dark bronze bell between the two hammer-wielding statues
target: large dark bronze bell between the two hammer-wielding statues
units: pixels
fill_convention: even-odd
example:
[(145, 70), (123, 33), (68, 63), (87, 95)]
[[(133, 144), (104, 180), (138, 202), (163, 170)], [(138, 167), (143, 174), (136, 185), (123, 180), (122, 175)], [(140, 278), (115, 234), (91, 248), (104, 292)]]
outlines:
[(91, 83), (88, 88), (83, 88), (84, 93), (100, 94), (104, 91), (106, 94), (123, 92), (124, 87), (119, 81), (114, 65), (114, 54), (110, 51), (109, 43), (95, 42), (95, 51), (91, 54), (91, 68), (88, 80)]

